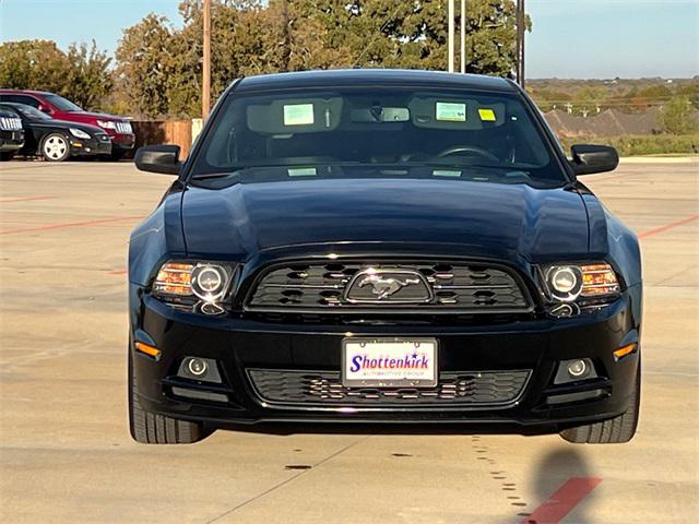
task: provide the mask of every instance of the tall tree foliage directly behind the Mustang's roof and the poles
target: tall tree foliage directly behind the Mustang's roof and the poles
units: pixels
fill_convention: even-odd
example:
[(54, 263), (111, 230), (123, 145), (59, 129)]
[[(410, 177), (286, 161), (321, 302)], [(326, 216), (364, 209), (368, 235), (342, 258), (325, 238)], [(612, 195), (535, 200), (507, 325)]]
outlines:
[[(236, 78), (336, 68), (447, 67), (441, 0), (214, 0), (212, 97)], [(511, 75), (514, 1), (467, 2), (466, 70)], [(117, 49), (115, 107), (146, 117), (201, 112), (201, 2), (180, 3), (174, 29), (151, 14), (123, 32)], [(529, 19), (528, 19), (529, 24)]]

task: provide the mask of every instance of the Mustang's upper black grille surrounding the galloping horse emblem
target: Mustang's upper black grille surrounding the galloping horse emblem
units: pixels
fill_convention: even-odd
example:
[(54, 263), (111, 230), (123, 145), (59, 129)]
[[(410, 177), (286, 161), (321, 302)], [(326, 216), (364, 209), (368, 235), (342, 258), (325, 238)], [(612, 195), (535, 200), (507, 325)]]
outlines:
[[(454, 312), (507, 311), (531, 309), (525, 291), (507, 270), (482, 264), (371, 264), (380, 271), (412, 271), (422, 275), (431, 290), (428, 300), (415, 303), (377, 301), (356, 303), (347, 299), (353, 277), (368, 264), (289, 264), (275, 267), (258, 282), (248, 303), (250, 311), (352, 311), (402, 310)], [(353, 289), (355, 289), (353, 287)]]

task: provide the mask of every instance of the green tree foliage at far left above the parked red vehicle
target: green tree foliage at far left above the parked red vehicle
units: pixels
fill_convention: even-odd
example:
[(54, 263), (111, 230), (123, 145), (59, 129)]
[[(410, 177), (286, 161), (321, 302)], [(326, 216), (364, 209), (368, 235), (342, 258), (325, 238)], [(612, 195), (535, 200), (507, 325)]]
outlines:
[(95, 43), (61, 51), (54, 41), (21, 40), (0, 45), (0, 85), (58, 93), (81, 107), (99, 108), (112, 85), (111, 59)]

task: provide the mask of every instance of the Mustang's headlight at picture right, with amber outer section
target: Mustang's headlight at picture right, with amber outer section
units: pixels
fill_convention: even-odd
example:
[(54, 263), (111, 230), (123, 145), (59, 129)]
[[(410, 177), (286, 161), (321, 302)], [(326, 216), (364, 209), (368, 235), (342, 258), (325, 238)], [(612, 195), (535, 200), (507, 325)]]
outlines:
[(619, 293), (619, 282), (609, 264), (552, 265), (545, 271), (546, 287), (557, 301), (594, 298)]

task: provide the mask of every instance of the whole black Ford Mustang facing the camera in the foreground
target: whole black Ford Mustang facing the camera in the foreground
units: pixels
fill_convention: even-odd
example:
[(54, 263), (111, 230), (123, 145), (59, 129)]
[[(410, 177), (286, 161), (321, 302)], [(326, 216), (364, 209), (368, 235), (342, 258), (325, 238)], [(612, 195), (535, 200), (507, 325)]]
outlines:
[(636, 236), (502, 79), (247, 78), (132, 234), (139, 442), (258, 421), (464, 422), (626, 442), (640, 398)]

